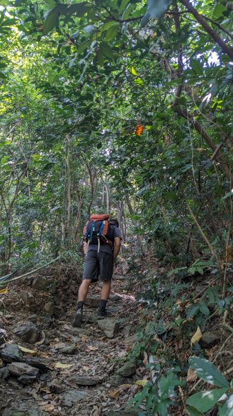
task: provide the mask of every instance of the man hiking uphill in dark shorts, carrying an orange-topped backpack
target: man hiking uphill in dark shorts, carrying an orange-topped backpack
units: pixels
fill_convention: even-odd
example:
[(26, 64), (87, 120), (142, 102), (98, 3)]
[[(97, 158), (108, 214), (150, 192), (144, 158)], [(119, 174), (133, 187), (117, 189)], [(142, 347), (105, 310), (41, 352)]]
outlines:
[(109, 220), (107, 214), (91, 216), (84, 227), (84, 273), (77, 295), (77, 312), (73, 320), (73, 327), (81, 326), (82, 310), (88, 288), (91, 283), (98, 280), (98, 275), (102, 281), (102, 289), (97, 318), (106, 318), (105, 308), (111, 291), (113, 267), (120, 252), (122, 239), (118, 227), (118, 220)]

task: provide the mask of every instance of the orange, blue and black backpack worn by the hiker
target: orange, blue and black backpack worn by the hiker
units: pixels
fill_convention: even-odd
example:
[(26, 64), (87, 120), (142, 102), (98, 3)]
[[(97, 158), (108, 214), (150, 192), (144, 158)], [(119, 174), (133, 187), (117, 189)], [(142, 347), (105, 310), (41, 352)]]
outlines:
[(91, 215), (84, 225), (82, 234), (88, 245), (98, 245), (98, 251), (100, 250), (100, 244), (109, 244), (113, 248), (113, 228), (109, 224), (109, 214)]

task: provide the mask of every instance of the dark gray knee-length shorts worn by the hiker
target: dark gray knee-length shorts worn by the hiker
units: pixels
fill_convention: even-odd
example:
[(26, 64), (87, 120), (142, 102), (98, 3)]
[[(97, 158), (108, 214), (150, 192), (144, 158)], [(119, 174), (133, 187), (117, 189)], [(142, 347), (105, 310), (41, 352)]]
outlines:
[(84, 258), (83, 280), (109, 281), (113, 277), (113, 256), (106, 252), (89, 250)]

